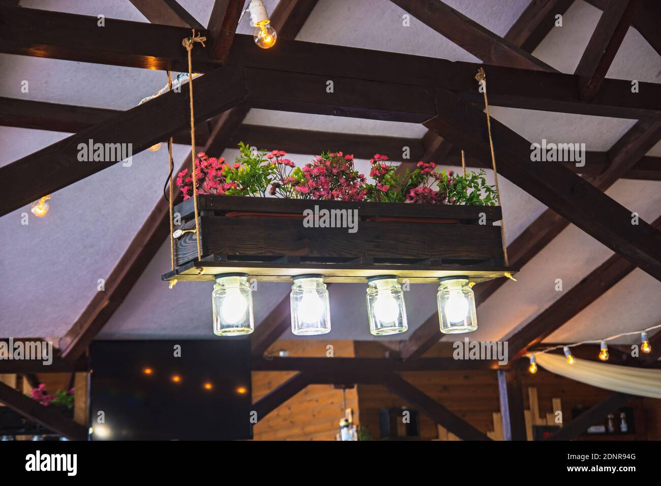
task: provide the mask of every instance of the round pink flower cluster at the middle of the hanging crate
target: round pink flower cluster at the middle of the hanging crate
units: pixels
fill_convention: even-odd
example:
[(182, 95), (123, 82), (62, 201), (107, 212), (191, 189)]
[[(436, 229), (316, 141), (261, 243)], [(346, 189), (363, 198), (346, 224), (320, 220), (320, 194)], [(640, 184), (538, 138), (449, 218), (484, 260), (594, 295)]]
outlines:
[(317, 155), (302, 170), (304, 180), (294, 187), (301, 198), (362, 201), (367, 196), (367, 179), (354, 169), (353, 155), (342, 152)]

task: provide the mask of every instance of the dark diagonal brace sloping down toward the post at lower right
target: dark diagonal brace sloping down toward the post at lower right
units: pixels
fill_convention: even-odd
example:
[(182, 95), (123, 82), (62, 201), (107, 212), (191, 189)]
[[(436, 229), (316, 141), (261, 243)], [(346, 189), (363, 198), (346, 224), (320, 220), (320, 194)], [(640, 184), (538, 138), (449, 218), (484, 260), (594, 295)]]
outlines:
[(444, 426), (463, 440), (491, 440), (480, 430), (461, 419), (446, 407), (408, 383), (401, 376), (391, 373), (383, 379), (383, 385), (399, 398), (415, 407), (438, 425)]

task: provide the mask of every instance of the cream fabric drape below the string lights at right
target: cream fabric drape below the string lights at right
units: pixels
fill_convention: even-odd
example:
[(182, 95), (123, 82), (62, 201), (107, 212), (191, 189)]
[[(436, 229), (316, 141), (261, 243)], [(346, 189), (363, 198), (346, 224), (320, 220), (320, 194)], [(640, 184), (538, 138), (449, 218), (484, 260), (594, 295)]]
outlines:
[(576, 382), (641, 397), (661, 398), (661, 370), (619, 366), (574, 358), (568, 364), (564, 356), (540, 352), (537, 364), (545, 370)]

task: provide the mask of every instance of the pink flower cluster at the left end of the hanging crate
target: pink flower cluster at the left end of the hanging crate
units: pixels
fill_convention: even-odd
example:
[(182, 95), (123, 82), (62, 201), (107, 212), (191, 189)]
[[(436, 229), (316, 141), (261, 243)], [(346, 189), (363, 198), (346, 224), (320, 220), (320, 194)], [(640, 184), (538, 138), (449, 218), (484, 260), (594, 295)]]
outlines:
[[(223, 157), (208, 157), (206, 153), (198, 153), (195, 159), (195, 172), (198, 179), (198, 194), (225, 194), (230, 189), (238, 188), (237, 182), (227, 181), (226, 169), (233, 167), (239, 169), (241, 164), (233, 166), (225, 163)], [(188, 169), (177, 174), (176, 185), (184, 194), (184, 201), (193, 195), (193, 178), (188, 175)]]

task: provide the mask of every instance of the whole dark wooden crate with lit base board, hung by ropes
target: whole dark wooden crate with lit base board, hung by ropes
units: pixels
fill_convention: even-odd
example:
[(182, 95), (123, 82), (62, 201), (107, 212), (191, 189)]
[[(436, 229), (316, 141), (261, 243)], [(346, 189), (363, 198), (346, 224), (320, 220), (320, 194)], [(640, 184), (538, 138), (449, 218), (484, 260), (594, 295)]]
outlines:
[[(176, 270), (165, 280), (213, 280), (215, 274), (245, 272), (266, 281), (288, 282), (319, 273), (328, 282), (365, 282), (395, 274), (411, 282), (467, 275), (476, 282), (502, 276), (497, 206), (340, 202), (235, 196), (198, 196), (202, 259), (196, 233), (175, 240)], [(357, 216), (348, 227), (305, 227), (306, 211)], [(175, 207), (194, 229), (192, 199)], [(346, 214), (346, 213), (345, 213)], [(335, 220), (334, 218), (331, 218)], [(338, 221), (338, 220), (336, 220)]]

